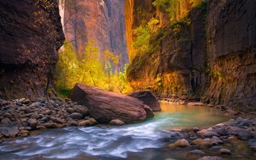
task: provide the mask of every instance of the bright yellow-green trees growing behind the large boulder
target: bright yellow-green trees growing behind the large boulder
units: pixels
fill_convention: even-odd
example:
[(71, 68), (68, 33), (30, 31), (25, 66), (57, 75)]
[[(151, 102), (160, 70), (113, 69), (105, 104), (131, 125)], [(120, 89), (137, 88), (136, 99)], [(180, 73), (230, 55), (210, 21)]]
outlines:
[[(82, 55), (82, 58), (78, 55)], [(60, 91), (60, 96), (67, 96), (68, 91), (78, 82), (114, 92), (132, 90), (126, 78), (127, 65), (124, 67), (124, 73), (112, 71), (113, 66), (119, 63), (119, 55), (105, 50), (105, 58), (101, 60), (99, 49), (92, 40), (85, 44), (85, 51), (78, 55), (72, 43), (67, 42), (64, 49), (59, 52), (54, 81)]]

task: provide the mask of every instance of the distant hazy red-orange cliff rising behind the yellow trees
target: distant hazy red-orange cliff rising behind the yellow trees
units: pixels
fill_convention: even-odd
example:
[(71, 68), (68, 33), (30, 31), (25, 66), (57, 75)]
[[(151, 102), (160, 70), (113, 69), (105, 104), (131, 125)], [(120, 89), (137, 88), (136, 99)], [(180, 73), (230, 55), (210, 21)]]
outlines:
[[(65, 36), (78, 53), (93, 39), (100, 49), (120, 55), (120, 65), (128, 62), (124, 23), (124, 0), (71, 1), (76, 12), (65, 9)], [(70, 4), (69, 4), (70, 5)]]

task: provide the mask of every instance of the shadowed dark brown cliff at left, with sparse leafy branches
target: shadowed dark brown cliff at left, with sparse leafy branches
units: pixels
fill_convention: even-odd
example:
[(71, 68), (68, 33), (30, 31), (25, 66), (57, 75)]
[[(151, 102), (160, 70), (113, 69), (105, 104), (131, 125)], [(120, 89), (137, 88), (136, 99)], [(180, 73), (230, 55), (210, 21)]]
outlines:
[(43, 96), (64, 41), (57, 1), (1, 1), (0, 34), (0, 98)]

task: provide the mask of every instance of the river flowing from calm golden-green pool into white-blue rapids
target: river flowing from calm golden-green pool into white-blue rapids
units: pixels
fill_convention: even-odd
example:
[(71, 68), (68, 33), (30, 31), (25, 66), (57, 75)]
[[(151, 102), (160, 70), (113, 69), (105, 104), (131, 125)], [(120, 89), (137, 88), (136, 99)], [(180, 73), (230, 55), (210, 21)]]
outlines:
[(153, 119), (122, 127), (51, 129), (0, 144), (0, 159), (164, 160), (188, 159), (184, 150), (166, 148), (171, 129), (206, 127), (224, 122), (218, 110), (161, 102)]

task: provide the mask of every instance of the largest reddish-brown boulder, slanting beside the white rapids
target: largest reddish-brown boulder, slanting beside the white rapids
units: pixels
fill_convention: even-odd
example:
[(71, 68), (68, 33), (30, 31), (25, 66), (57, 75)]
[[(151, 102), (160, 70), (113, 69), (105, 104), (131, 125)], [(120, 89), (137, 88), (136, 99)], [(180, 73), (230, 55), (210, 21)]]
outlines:
[(112, 119), (119, 119), (124, 123), (146, 119), (144, 102), (134, 97), (102, 90), (99, 87), (78, 83), (68, 97), (73, 102), (85, 105), (90, 116), (100, 123), (108, 123)]

